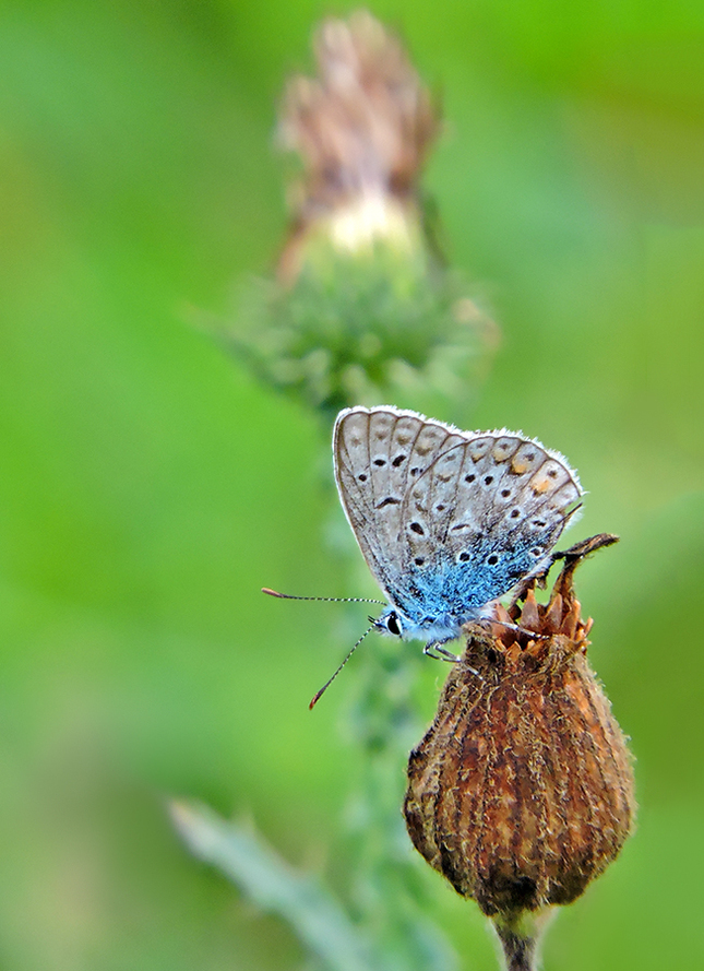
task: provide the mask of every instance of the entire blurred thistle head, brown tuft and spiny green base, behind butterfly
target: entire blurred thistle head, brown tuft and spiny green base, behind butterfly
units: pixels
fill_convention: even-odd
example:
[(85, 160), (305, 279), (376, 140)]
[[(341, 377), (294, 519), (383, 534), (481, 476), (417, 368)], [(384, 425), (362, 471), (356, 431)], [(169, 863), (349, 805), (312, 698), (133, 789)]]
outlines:
[(498, 329), (443, 265), (420, 201), (437, 107), (369, 13), (324, 22), (314, 49), (318, 76), (291, 79), (279, 125), (302, 169), (293, 225), (229, 340), (327, 416), (386, 400), (442, 414), (469, 403)]

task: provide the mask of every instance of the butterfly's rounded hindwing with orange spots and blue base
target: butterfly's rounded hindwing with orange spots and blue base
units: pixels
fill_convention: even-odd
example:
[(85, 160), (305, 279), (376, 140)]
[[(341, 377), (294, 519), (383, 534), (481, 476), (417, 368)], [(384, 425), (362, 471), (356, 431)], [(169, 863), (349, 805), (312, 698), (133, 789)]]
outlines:
[(467, 434), (406, 493), (402, 561), (426, 605), (472, 619), (548, 563), (582, 495), (566, 461), (506, 431)]

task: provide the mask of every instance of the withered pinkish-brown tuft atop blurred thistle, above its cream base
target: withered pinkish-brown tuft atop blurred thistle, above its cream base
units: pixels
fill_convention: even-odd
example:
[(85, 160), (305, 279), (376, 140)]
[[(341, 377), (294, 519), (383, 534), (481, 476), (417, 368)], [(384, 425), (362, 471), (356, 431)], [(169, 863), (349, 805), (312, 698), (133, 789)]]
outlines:
[(403, 196), (438, 132), (427, 90), (403, 45), (367, 11), (327, 20), (314, 38), (318, 78), (293, 78), (282, 141), (298, 152), (311, 203)]

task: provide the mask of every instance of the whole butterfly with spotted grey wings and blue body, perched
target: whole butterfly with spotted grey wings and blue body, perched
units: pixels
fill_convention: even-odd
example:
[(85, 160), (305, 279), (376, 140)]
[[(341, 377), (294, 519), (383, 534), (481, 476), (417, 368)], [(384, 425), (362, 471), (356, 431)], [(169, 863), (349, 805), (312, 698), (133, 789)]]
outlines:
[(392, 406), (341, 412), (333, 452), (343, 508), (390, 604), (374, 626), (428, 644), (542, 571), (582, 495), (565, 460), (533, 439)]

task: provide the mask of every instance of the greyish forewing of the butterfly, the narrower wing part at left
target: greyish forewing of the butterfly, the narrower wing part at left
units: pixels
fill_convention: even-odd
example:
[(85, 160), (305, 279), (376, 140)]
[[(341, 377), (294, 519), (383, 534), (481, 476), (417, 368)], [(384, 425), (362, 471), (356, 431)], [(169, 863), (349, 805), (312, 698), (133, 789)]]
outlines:
[(337, 416), (333, 454), (339, 498), (374, 579), (402, 609), (408, 588), (408, 490), (443, 451), (462, 441), (457, 429), (390, 406), (346, 408)]

